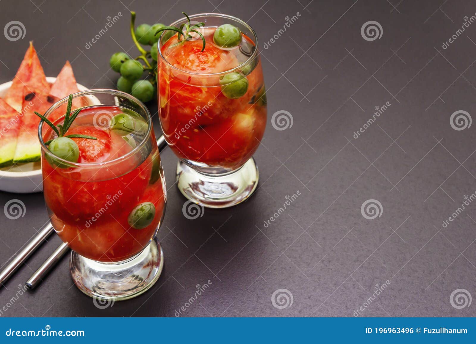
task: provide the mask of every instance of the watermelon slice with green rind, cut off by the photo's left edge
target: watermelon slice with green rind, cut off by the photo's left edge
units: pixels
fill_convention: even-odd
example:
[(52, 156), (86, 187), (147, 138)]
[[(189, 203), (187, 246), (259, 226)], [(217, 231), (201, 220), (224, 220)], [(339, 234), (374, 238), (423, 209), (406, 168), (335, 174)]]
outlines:
[(0, 98), (0, 167), (13, 164), (20, 120), (20, 114)]

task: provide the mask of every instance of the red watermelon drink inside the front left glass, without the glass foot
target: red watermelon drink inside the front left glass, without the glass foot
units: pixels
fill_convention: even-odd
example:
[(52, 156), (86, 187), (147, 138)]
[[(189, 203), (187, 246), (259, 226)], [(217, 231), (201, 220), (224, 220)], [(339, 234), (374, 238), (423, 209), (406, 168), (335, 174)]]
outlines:
[[(94, 123), (98, 113), (107, 122), (107, 117), (112, 119), (123, 111), (96, 106), (79, 112), (68, 133), (98, 138), (72, 138), (79, 147), (78, 163), (83, 166), (58, 168), (42, 157), (43, 190), (53, 227), (72, 250), (100, 262), (125, 260), (142, 251), (155, 235), (165, 205), (159, 169), (156, 164), (154, 170), (153, 163), (159, 159), (157, 145), (151, 145), (144, 159), (131, 154), (133, 147), (115, 130)], [(51, 139), (51, 134), (49, 130), (43, 140)], [(127, 155), (130, 157), (107, 167), (89, 165)], [(154, 204), (156, 215), (150, 225), (135, 229), (128, 216), (144, 202)]]

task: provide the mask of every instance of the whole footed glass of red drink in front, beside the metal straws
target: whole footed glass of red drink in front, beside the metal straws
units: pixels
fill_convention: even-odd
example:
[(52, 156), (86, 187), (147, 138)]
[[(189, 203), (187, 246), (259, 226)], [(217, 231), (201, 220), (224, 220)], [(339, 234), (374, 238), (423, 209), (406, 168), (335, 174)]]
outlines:
[[(68, 98), (45, 114), (60, 125)], [(70, 272), (85, 294), (123, 300), (159, 278), (163, 253), (154, 239), (165, 213), (166, 187), (148, 109), (129, 94), (93, 89), (73, 96), (81, 108), (69, 134), (79, 162), (55, 156), (44, 142), (54, 132), (40, 123), (41, 168), (50, 221), (73, 250)], [(116, 120), (128, 119), (129, 122)], [(133, 130), (132, 130), (132, 129)]]

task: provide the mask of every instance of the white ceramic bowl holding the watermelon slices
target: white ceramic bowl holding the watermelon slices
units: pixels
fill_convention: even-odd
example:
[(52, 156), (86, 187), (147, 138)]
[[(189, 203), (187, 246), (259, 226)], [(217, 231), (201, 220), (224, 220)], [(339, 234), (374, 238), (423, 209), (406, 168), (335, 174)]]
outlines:
[[(55, 82), (56, 78), (46, 77), (49, 83)], [(8, 89), (11, 87), (11, 81), (0, 85), (0, 98), (5, 97)], [(79, 91), (85, 91), (88, 88), (77, 84)], [(0, 138), (1, 139), (1, 138)], [(26, 164), (12, 165), (0, 168), (0, 190), (28, 194), (31, 192), (40, 192), (43, 190), (43, 180), (41, 177), (41, 163), (29, 162)]]

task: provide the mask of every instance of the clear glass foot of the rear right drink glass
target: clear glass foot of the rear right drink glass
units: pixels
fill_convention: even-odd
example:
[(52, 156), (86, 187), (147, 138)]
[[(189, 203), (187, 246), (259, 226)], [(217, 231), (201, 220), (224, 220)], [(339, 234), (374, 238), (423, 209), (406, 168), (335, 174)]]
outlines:
[(209, 208), (225, 208), (243, 202), (255, 191), (258, 178), (254, 158), (237, 171), (224, 175), (199, 173), (181, 160), (177, 165), (180, 192), (193, 202)]

